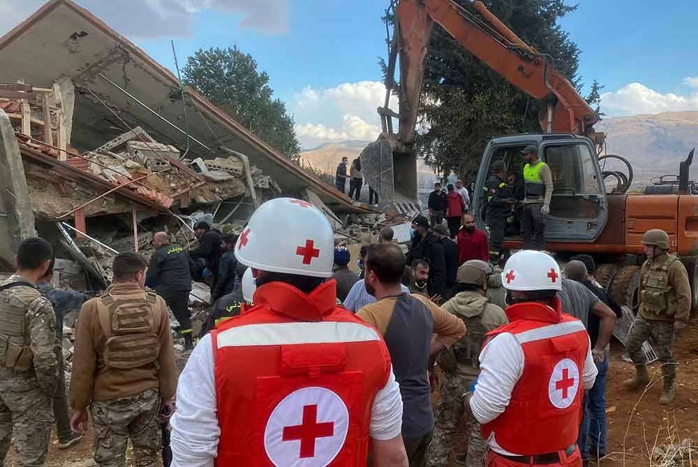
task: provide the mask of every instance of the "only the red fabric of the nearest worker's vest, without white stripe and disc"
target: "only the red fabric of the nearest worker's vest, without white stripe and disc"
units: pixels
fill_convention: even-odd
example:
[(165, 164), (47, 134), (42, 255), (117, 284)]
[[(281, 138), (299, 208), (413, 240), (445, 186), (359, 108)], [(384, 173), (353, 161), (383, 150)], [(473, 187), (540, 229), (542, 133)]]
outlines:
[[(224, 333), (239, 326), (332, 321), (371, 328), (346, 309), (336, 307), (335, 293), (334, 280), (322, 284), (309, 295), (288, 284), (265, 284), (255, 291), (253, 308), (211, 331), (221, 427), (216, 466), (273, 466), (265, 447), (267, 422), (274, 408), (286, 397), (311, 387), (331, 390), (348, 411), (346, 440), (329, 465), (365, 464), (373, 399), (385, 387), (390, 375), (389, 353), (378, 331), (378, 340), (368, 342), (223, 346), (218, 349)], [(306, 405), (302, 410), (303, 423), (291, 424), (293, 426), (283, 431), (285, 438), (281, 441), (301, 440), (300, 454), (313, 457), (315, 447), (320, 450), (320, 444), (303, 438), (301, 431), (306, 415), (309, 423), (315, 422), (318, 409)], [(327, 420), (317, 421), (319, 424), (314, 425), (312, 434), (327, 436), (325, 431), (329, 433), (329, 425), (320, 423)], [(281, 442), (274, 439), (276, 443)], [(294, 465), (294, 461), (297, 459), (290, 459), (285, 465)]]

